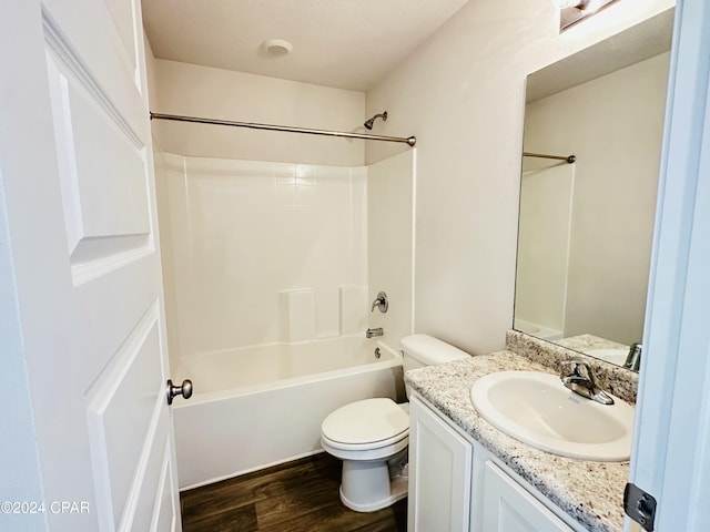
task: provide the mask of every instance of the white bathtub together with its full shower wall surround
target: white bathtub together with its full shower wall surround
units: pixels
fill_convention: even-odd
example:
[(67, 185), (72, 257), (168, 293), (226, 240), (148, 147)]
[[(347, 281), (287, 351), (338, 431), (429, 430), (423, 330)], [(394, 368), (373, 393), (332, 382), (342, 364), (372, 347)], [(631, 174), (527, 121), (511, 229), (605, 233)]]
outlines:
[[(414, 153), (373, 175), (164, 161), (175, 380), (190, 378), (195, 389), (174, 409), (181, 488), (320, 452), (332, 411), (373, 397), (403, 400), (393, 347), (412, 331)], [(368, 263), (373, 253), (379, 259)], [(369, 311), (379, 290), (390, 296), (387, 314)], [(368, 327), (385, 335), (366, 339)]]

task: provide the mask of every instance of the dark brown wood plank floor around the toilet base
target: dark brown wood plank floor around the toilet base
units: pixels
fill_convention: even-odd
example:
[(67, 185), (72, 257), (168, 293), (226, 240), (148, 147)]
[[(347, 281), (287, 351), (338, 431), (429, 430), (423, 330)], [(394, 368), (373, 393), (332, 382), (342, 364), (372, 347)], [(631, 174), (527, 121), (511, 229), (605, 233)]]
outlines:
[(327, 453), (182, 492), (184, 532), (405, 532), (407, 500), (373, 513), (338, 498), (341, 461)]

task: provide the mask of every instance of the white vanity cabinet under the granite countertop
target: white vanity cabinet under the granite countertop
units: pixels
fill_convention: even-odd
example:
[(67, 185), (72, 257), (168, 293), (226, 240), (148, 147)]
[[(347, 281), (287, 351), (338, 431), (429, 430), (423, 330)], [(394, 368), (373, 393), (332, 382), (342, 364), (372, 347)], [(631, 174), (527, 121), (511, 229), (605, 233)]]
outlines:
[(409, 402), (408, 532), (582, 532), (417, 393)]

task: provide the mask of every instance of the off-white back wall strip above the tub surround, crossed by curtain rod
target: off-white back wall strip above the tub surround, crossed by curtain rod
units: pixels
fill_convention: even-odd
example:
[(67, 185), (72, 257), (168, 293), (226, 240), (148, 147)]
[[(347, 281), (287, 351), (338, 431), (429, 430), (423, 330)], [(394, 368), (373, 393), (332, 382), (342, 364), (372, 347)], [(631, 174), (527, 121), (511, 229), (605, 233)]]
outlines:
[[(156, 59), (151, 111), (207, 119), (365, 132), (365, 94)], [(356, 166), (365, 143), (329, 136), (153, 121), (171, 153)]]

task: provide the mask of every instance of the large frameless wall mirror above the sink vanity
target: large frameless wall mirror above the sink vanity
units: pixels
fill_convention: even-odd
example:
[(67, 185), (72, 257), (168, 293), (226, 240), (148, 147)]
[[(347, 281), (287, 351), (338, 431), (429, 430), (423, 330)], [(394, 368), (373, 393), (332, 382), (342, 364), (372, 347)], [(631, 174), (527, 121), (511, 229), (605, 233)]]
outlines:
[(672, 22), (527, 81), (514, 328), (621, 366), (642, 336)]

